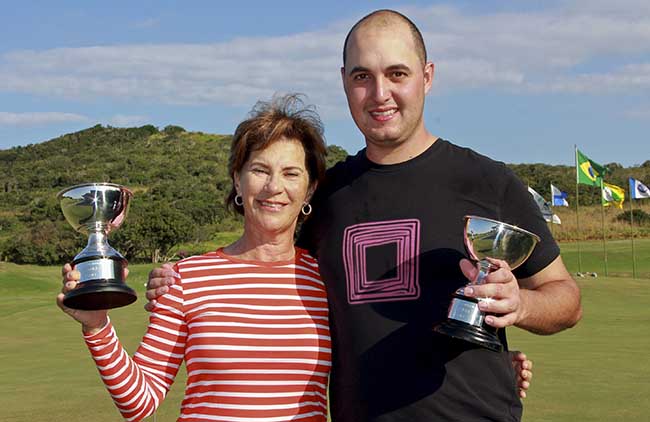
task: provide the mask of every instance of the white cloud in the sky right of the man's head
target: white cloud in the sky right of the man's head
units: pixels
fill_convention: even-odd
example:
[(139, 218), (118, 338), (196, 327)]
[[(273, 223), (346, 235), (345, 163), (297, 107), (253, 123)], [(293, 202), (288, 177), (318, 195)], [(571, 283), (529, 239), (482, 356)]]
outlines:
[[(570, 3), (534, 13), (463, 15), (450, 7), (420, 12), (416, 21), (430, 58), (439, 63), (439, 86), (603, 94), (639, 88), (628, 69), (643, 72), (641, 79), (650, 76), (650, 14), (610, 14), (588, 2), (581, 8)], [(603, 63), (619, 65), (602, 71)]]

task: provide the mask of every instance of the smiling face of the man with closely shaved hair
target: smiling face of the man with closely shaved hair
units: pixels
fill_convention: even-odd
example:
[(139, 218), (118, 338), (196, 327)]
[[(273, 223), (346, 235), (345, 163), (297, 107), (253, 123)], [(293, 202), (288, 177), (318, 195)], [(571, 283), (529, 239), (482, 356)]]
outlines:
[(422, 63), (406, 25), (356, 29), (341, 75), (352, 118), (369, 148), (390, 149), (426, 134), (422, 112), (433, 64)]

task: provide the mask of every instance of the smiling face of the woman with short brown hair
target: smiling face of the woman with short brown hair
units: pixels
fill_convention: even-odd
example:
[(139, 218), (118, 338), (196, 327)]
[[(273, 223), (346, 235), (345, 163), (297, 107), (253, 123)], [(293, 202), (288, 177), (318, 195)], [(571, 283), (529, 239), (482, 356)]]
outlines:
[(313, 193), (302, 144), (280, 138), (253, 151), (235, 173), (235, 188), (243, 200), (246, 230), (293, 236), (300, 210)]

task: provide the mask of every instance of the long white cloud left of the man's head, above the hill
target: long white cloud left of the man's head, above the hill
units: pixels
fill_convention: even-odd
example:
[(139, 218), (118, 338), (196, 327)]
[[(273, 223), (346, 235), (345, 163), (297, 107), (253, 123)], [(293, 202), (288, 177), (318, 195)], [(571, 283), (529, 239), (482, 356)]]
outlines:
[(0, 62), (0, 91), (249, 105), (275, 91), (317, 92), (323, 85), (339, 91), (338, 61), (323, 53), (336, 44), (329, 35), (301, 34), (221, 44), (16, 51)]

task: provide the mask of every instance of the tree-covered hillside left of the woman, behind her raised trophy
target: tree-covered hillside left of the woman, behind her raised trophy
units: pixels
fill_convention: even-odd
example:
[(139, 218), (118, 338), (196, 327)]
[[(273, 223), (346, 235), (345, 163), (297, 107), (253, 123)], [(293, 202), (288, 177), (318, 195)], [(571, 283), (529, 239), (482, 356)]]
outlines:
[(180, 126), (97, 125), (0, 151), (0, 258), (48, 265), (71, 260), (87, 238), (65, 222), (57, 192), (112, 182), (132, 189), (134, 199), (124, 225), (110, 234), (111, 245), (129, 260), (169, 259), (206, 227), (219, 229), (225, 192), (218, 187), (229, 187), (223, 170), (229, 147), (229, 136)]

